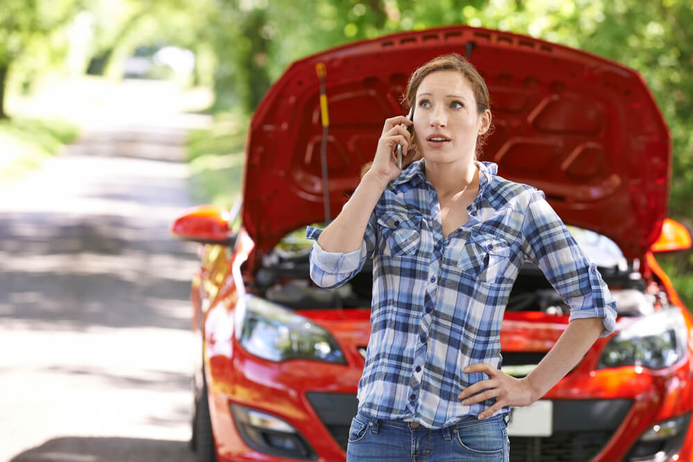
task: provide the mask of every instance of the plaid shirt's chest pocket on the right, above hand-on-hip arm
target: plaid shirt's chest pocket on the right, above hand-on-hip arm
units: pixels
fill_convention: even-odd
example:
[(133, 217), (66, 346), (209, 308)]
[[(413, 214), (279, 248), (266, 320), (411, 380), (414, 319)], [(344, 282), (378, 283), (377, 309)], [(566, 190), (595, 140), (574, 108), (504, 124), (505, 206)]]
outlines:
[(452, 257), (459, 272), (477, 282), (492, 283), (507, 267), (510, 247), (494, 236), (472, 236), (456, 247)]

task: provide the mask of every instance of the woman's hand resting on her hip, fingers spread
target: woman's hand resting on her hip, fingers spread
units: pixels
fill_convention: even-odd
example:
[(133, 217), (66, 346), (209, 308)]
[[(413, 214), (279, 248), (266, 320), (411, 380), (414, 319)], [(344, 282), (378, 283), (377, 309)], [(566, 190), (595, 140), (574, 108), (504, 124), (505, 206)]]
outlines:
[[(471, 405), (475, 402), (482, 402), (489, 398), (495, 398), (495, 404), (479, 414), (480, 419), (492, 416), (495, 411), (498, 411), (498, 409), (502, 407), (528, 406), (537, 399), (534, 398), (534, 391), (527, 381), (527, 377), (516, 379), (485, 362), (466, 366), (464, 372), (485, 372), (491, 377), (487, 380), (480, 380), (470, 385), (458, 395), (459, 399), (463, 400), (463, 405)], [(480, 391), (482, 391), (482, 393), (478, 393)], [(478, 394), (474, 395), (474, 393)], [(468, 398), (470, 395), (474, 396)]]

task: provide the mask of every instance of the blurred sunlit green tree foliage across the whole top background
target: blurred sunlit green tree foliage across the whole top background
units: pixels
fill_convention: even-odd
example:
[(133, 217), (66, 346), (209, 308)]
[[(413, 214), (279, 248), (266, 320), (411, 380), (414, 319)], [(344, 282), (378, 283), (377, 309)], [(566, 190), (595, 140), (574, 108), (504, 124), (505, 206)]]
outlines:
[[(190, 48), (208, 63), (216, 108), (246, 114), (293, 60), (401, 30), (470, 24), (611, 58), (640, 72), (665, 115), (674, 142), (670, 215), (693, 224), (693, 0), (3, 0), (0, 82), (27, 46), (49, 44), (80, 9), (94, 18), (94, 56), (123, 44)], [(690, 272), (691, 258), (667, 265)]]

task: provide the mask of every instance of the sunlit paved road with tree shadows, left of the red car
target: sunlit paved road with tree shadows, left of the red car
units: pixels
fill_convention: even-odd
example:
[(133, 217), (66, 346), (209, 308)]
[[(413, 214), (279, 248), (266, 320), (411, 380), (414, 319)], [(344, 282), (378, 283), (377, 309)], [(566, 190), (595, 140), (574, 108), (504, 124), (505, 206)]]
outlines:
[[(195, 245), (173, 87), (130, 82), (87, 134), (0, 187), (0, 461), (191, 461)], [(202, 121), (204, 123), (204, 121)]]

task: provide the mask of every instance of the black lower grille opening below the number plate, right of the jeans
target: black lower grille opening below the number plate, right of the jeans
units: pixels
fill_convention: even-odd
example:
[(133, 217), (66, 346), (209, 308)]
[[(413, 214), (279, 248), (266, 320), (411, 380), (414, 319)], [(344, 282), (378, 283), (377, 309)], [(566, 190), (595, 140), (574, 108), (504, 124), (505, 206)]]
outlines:
[(555, 432), (546, 438), (511, 436), (510, 462), (586, 462), (602, 450), (613, 432)]

